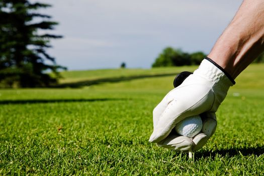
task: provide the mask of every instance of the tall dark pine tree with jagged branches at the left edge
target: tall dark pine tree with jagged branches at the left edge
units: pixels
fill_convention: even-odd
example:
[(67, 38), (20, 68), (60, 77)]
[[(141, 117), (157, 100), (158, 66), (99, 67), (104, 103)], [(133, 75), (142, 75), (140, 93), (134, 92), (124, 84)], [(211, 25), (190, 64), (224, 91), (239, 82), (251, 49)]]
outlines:
[(52, 30), (58, 24), (49, 20), (51, 16), (37, 12), (48, 7), (51, 6), (27, 0), (0, 0), (1, 86), (53, 85), (60, 76), (58, 69), (65, 69), (46, 52), (51, 47), (50, 39), (62, 36), (38, 33), (38, 30)]

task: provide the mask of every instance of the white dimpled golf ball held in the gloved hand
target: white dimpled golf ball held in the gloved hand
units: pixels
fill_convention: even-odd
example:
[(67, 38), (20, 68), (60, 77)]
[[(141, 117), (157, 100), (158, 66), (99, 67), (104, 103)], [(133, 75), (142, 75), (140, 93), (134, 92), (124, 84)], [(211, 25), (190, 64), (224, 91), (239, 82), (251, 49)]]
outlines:
[(194, 137), (203, 128), (203, 121), (200, 116), (188, 117), (175, 126), (175, 130), (178, 134), (187, 137)]

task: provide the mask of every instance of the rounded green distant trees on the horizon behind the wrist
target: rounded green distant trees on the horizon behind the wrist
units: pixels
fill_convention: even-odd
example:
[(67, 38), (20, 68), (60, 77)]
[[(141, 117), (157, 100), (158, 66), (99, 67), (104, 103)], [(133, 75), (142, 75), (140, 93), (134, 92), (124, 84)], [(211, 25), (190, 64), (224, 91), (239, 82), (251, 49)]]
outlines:
[[(207, 54), (202, 51), (188, 53), (181, 49), (166, 47), (155, 59), (152, 67), (199, 65), (206, 56)], [(264, 52), (253, 63), (264, 63)]]

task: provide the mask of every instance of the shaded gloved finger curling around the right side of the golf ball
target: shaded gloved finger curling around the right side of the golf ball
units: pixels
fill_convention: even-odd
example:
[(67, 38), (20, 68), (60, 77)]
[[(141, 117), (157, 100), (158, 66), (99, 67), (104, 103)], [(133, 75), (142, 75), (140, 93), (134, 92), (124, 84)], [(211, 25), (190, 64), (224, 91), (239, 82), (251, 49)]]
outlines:
[(217, 126), (215, 113), (203, 113), (201, 116), (203, 119), (203, 128), (201, 133), (193, 138), (193, 142), (195, 143), (192, 148), (193, 151), (199, 150), (206, 144), (208, 139), (214, 134)]

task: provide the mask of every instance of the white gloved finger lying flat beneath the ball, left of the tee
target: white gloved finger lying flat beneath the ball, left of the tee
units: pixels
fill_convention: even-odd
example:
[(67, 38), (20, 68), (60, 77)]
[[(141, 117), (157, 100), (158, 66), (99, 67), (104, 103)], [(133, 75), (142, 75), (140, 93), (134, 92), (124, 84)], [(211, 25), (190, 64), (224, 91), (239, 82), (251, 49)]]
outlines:
[(189, 151), (194, 143), (192, 138), (170, 134), (166, 139), (158, 142), (157, 145), (171, 150)]

